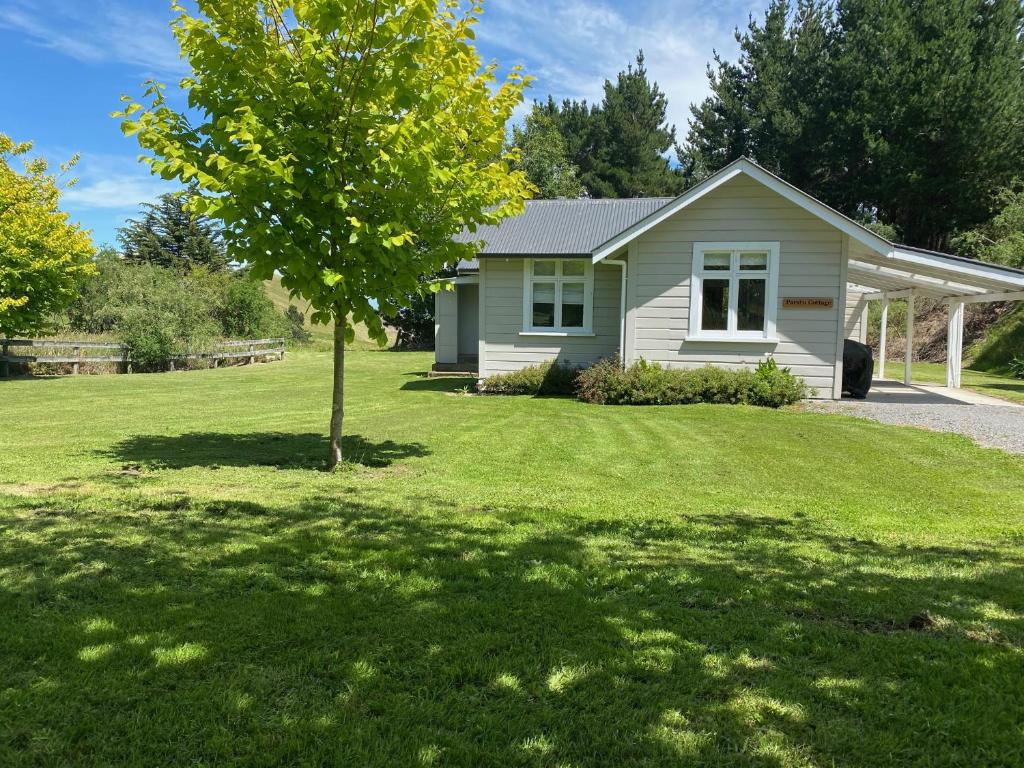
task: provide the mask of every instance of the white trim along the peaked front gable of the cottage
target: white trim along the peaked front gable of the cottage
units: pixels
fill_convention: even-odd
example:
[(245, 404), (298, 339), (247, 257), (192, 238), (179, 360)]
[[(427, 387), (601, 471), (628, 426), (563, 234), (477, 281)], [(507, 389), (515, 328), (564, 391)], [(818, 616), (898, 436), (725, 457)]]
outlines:
[(880, 238), (870, 229), (858, 224), (853, 219), (844, 216), (839, 211), (836, 211), (835, 209), (826, 206), (824, 203), (815, 200), (807, 193), (801, 191), (793, 184), (783, 181), (775, 174), (766, 171), (753, 161), (748, 160), (746, 158), (739, 158), (739, 160), (733, 161), (718, 173), (701, 181), (692, 189), (683, 193), (668, 205), (654, 211), (654, 213), (647, 216), (647, 218), (641, 219), (629, 229), (620, 232), (611, 240), (598, 246), (592, 254), (594, 263), (597, 263), (602, 259), (606, 259), (608, 256), (618, 252), (627, 244), (636, 240), (641, 234), (648, 231), (651, 227), (657, 226), (670, 216), (678, 213), (691, 203), (700, 200), (700, 198), (717, 189), (726, 181), (729, 181), (740, 174), (750, 176), (755, 181), (764, 184), (772, 191), (782, 196), (791, 203), (803, 208), (808, 213), (817, 216), (825, 223), (831, 224), (840, 231), (849, 234), (858, 243), (862, 243), (872, 251), (882, 255), (889, 255), (892, 253), (893, 245), (889, 241), (884, 238)]

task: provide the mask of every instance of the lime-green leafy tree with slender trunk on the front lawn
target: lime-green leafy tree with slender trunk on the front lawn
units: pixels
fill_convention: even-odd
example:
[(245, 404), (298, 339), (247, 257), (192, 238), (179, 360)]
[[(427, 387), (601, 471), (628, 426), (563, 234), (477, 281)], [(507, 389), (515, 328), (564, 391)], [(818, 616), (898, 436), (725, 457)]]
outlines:
[[(189, 113), (151, 83), (126, 133), (155, 173), (196, 181), (190, 208), (223, 223), (228, 255), (335, 323), (330, 466), (342, 459), (348, 325), (386, 336), (372, 302), (471, 257), (453, 236), (521, 212), (505, 124), (522, 99), (512, 70), (481, 67), (481, 10), (459, 0), (198, 0), (173, 25), (193, 76)], [(130, 101), (131, 99), (126, 98)], [(197, 123), (194, 116), (198, 115)]]

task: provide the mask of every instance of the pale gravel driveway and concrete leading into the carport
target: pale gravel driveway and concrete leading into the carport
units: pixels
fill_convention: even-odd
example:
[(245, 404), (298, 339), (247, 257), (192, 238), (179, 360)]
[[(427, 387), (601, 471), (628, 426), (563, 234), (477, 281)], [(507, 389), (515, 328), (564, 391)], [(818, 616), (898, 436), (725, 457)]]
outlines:
[(814, 402), (812, 411), (873, 419), (884, 424), (956, 432), (981, 445), (1024, 454), (1024, 407), (964, 389), (876, 382), (866, 400)]

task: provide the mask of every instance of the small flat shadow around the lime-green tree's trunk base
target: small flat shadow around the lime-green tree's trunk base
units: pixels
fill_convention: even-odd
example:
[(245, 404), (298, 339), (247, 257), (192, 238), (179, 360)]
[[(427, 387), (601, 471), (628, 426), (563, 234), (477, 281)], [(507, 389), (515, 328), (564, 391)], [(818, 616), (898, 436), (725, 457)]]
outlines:
[[(182, 435), (134, 435), (102, 452), (104, 456), (155, 469), (186, 467), (321, 468), (329, 441), (325, 435), (288, 432), (189, 432)], [(419, 442), (373, 442), (359, 435), (342, 439), (346, 462), (366, 467), (388, 467), (396, 461), (427, 456)]]

